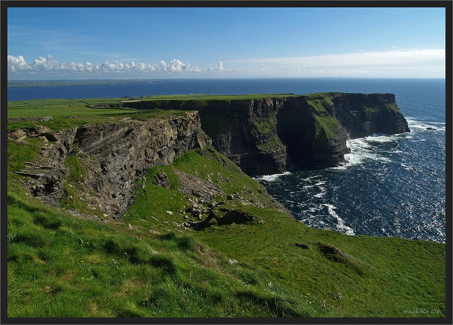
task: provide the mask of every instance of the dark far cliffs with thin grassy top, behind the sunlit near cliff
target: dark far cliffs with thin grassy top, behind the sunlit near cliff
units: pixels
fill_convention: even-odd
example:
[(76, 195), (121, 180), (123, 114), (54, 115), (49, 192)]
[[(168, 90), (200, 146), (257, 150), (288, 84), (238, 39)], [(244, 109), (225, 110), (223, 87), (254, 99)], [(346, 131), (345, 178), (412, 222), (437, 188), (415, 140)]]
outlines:
[(249, 175), (282, 173), (291, 159), (334, 167), (346, 140), (409, 132), (393, 94), (318, 93), (241, 100), (128, 103), (137, 109), (196, 109), (213, 146)]

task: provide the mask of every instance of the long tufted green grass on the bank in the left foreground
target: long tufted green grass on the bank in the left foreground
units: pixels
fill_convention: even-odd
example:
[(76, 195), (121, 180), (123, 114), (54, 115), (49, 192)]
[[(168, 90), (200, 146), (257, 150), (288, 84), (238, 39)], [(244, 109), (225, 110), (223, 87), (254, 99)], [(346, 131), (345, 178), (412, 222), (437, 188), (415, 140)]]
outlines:
[(7, 224), (11, 318), (341, 315), (190, 235), (78, 219), (14, 184)]

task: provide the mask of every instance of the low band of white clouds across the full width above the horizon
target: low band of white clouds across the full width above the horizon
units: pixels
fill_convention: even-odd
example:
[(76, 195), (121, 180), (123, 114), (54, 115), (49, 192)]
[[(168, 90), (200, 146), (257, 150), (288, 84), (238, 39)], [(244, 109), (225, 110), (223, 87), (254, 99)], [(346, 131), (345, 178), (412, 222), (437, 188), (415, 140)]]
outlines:
[[(236, 66), (224, 66), (225, 63)], [(8, 80), (95, 79), (95, 78), (215, 78), (215, 77), (401, 77), (445, 78), (444, 49), (395, 49), (333, 55), (257, 58), (218, 61), (215, 66), (198, 67), (173, 59), (157, 65), (64, 63), (55, 57), (39, 56), (28, 63), (22, 55), (7, 56)]]

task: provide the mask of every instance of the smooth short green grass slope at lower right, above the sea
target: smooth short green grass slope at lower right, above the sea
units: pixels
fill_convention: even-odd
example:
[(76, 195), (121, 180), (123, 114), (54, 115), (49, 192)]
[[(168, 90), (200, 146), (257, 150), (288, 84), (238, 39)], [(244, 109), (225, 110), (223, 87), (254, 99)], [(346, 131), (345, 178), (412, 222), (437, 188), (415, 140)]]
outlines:
[[(263, 222), (204, 229), (196, 237), (293, 289), (317, 298), (340, 293), (341, 308), (360, 317), (405, 317), (405, 310), (415, 308), (439, 310), (425, 316), (445, 316), (444, 245), (351, 237), (311, 229), (273, 211), (241, 208)], [(332, 259), (320, 247), (335, 247), (346, 258)]]

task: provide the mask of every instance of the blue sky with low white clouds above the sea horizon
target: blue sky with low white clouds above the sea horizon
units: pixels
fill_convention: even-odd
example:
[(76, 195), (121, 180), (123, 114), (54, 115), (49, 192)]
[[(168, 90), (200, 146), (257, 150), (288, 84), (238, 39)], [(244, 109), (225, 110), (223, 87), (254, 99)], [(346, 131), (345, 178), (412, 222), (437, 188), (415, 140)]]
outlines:
[(7, 75), (445, 78), (445, 15), (445, 7), (8, 7)]

